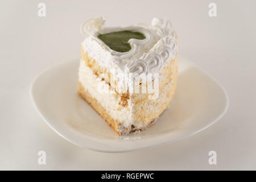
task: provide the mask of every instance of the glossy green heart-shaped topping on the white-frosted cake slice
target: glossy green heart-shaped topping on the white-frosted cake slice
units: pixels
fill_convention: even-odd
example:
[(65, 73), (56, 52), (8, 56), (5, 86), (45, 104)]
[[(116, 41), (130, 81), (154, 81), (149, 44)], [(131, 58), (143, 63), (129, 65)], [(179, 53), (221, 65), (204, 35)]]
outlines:
[(131, 46), (128, 43), (130, 39), (145, 39), (146, 37), (141, 32), (133, 32), (129, 30), (111, 32), (108, 34), (100, 34), (98, 38), (101, 39), (110, 49), (117, 52), (130, 51)]

